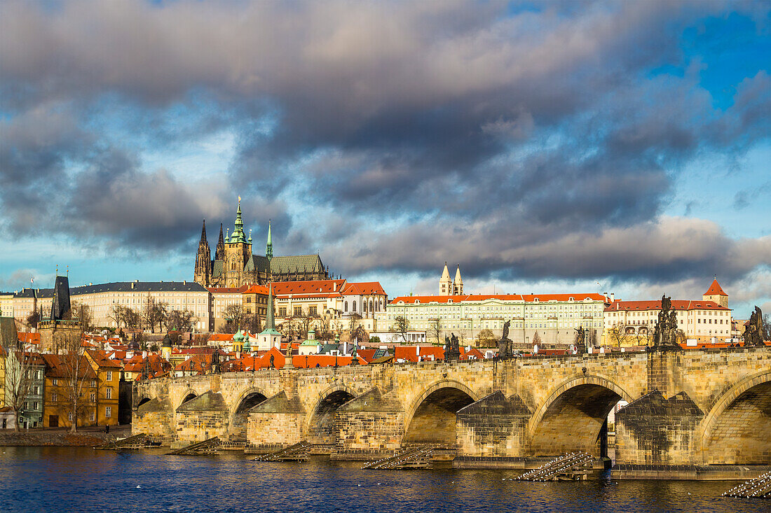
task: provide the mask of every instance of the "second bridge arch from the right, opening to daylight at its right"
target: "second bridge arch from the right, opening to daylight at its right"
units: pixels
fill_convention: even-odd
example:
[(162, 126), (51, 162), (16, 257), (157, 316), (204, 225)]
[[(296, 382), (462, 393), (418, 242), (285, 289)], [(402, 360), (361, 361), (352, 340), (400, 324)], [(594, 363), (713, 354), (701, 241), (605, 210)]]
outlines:
[(581, 374), (563, 381), (530, 418), (527, 432), (534, 456), (586, 451), (604, 456), (598, 438), (618, 401), (634, 401), (607, 377)]

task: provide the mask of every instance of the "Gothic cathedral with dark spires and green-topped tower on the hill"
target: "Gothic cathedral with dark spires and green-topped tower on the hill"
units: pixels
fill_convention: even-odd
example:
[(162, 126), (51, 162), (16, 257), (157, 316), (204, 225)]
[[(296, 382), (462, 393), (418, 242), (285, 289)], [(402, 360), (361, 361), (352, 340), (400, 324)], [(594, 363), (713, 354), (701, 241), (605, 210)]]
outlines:
[(268, 243), (265, 256), (251, 252), (251, 230), (247, 238), (244, 222), (241, 220), (241, 198), (233, 233), (222, 235), (214, 250), (214, 259), (206, 239), (206, 220), (200, 231), (200, 242), (195, 259), (193, 280), (204, 287), (241, 287), (257, 283), (265, 285), (271, 281), (328, 280), (329, 270), (317, 255), (295, 255), (274, 257), (271, 225), (268, 223)]

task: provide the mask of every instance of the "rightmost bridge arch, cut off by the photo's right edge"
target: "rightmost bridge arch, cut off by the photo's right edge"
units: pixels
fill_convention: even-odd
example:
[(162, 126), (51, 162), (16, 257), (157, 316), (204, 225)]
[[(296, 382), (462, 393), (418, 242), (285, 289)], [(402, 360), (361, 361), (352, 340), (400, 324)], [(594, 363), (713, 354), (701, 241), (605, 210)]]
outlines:
[(771, 371), (730, 387), (702, 426), (702, 464), (771, 464)]

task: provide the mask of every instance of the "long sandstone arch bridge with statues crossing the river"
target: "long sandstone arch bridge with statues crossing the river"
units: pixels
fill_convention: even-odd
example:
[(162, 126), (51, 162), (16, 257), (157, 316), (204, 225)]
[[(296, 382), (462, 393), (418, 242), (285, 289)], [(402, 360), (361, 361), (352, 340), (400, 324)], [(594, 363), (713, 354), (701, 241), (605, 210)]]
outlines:
[(332, 458), (402, 444), (456, 450), (456, 466), (598, 458), (618, 401), (616, 462), (771, 464), (771, 348), (381, 364), (136, 382), (133, 431), (182, 444), (220, 436), (311, 441)]

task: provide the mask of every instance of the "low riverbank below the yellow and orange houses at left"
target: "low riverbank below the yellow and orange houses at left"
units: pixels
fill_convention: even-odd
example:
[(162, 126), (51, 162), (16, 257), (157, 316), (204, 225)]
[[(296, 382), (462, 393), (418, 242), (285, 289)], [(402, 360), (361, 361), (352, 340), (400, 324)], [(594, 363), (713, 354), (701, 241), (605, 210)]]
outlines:
[(0, 446), (3, 447), (93, 447), (116, 438), (125, 438), (131, 433), (131, 426), (110, 428), (82, 428), (77, 433), (62, 429), (29, 429), (19, 432), (0, 431)]

